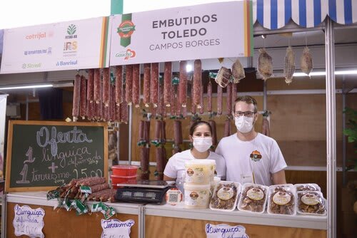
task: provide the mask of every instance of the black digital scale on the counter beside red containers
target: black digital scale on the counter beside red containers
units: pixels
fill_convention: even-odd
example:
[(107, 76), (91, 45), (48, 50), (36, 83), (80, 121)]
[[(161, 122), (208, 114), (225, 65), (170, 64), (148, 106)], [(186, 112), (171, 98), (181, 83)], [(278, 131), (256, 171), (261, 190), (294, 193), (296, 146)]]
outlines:
[(116, 200), (121, 202), (161, 203), (174, 181), (131, 180), (117, 184)]

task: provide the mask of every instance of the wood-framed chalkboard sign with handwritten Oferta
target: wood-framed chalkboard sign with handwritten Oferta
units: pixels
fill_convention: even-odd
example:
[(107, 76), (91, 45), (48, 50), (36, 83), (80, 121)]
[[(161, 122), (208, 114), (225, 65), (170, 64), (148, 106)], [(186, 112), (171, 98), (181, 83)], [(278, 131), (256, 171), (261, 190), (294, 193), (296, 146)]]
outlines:
[(106, 123), (9, 122), (6, 192), (51, 190), (73, 178), (106, 177)]

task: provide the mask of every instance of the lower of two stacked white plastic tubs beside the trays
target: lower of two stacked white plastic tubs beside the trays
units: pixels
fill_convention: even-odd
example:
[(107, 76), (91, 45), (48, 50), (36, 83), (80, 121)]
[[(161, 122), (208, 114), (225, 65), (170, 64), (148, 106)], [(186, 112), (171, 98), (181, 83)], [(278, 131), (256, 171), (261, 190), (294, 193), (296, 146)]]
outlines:
[(207, 208), (211, 198), (211, 185), (191, 185), (185, 182), (185, 207)]

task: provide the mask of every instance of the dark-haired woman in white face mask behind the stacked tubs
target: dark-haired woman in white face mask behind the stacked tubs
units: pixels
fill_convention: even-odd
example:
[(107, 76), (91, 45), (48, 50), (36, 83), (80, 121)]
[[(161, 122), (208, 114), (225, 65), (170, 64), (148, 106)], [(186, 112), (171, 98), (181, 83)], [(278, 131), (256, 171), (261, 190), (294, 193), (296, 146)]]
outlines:
[(221, 155), (209, 150), (212, 145), (212, 128), (206, 121), (198, 121), (193, 123), (190, 128), (190, 135), (188, 136), (193, 148), (191, 150), (184, 150), (183, 152), (173, 155), (169, 162), (167, 162), (164, 170), (164, 180), (176, 180), (176, 178), (183, 177), (185, 174), (185, 162), (188, 160), (216, 160), (217, 176), (221, 179), (226, 177), (226, 163)]

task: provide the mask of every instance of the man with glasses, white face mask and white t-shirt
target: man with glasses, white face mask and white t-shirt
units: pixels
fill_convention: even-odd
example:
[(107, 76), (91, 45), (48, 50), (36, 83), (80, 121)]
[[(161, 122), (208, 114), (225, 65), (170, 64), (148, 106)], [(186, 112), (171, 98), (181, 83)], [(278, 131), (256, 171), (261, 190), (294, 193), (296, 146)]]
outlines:
[(276, 140), (257, 133), (257, 103), (251, 96), (238, 97), (232, 113), (237, 133), (218, 143), (216, 153), (226, 160), (226, 180), (260, 185), (285, 184), (287, 166)]

